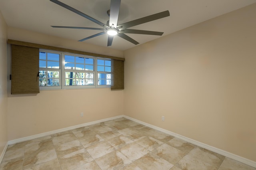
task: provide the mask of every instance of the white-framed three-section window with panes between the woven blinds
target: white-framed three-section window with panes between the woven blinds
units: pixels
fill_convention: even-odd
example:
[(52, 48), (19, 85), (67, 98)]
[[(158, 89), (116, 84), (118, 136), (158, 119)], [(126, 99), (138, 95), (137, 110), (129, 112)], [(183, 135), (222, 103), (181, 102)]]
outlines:
[(39, 65), (40, 89), (111, 86), (111, 59), (40, 50)]

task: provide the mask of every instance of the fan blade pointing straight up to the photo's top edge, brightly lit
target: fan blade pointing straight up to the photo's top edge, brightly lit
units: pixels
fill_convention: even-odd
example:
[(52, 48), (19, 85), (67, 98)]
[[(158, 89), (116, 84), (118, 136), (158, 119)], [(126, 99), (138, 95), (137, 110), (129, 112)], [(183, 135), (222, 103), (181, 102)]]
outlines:
[(109, 16), (109, 26), (114, 24), (114, 28), (117, 26), (117, 20), (119, 15), (121, 0), (111, 0), (110, 2), (110, 16)]

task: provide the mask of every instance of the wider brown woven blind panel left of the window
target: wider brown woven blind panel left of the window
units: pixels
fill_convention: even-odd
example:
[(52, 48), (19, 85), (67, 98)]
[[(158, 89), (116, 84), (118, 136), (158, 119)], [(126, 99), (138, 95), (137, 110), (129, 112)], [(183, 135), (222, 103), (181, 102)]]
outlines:
[(12, 45), (12, 94), (39, 93), (39, 49)]

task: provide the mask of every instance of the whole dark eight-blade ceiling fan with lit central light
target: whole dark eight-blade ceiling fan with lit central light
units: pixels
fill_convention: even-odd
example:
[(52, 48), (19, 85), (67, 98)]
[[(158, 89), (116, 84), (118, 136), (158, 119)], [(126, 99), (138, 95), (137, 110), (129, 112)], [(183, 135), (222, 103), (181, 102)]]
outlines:
[(107, 24), (103, 24), (102, 22), (100, 22), (100, 21), (72, 8), (71, 6), (68, 6), (68, 5), (58, 1), (58, 0), (50, 0), (50, 1), (66, 8), (66, 9), (68, 9), (68, 10), (88, 19), (88, 20), (91, 20), (92, 22), (94, 22), (102, 27), (102, 28), (87, 28), (87, 27), (70, 27), (70, 26), (52, 26), (53, 28), (75, 28), (75, 29), (85, 29), (85, 30), (101, 30), (103, 32), (83, 38), (82, 40), (79, 40), (79, 41), (82, 42), (84, 40), (88, 40), (90, 38), (94, 38), (96, 36), (100, 36), (102, 34), (107, 33), (108, 34), (108, 46), (112, 45), (115, 35), (120, 38), (123, 38), (124, 40), (127, 40), (128, 42), (134, 43), (135, 45), (137, 45), (138, 42), (136, 42), (134, 39), (130, 38), (126, 34), (146, 34), (146, 35), (162, 36), (162, 34), (164, 34), (163, 32), (146, 31), (146, 30), (132, 30), (132, 29), (127, 29), (127, 28), (170, 16), (169, 11), (167, 10), (164, 12), (160, 12), (157, 14), (153, 14), (150, 16), (146, 16), (143, 18), (139, 18), (137, 20), (133, 20), (133, 21), (118, 25), (117, 22), (118, 22), (118, 15), (119, 15), (121, 0), (111, 0), (110, 10), (108, 10), (108, 12), (107, 12), (109, 15), (109, 21), (107, 22)]

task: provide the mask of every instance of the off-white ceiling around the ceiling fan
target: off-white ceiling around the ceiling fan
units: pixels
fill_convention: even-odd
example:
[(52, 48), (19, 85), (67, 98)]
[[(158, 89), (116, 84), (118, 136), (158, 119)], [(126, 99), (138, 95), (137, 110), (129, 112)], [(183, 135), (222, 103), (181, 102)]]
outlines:
[[(106, 23), (110, 0), (60, 0), (61, 2)], [(130, 29), (164, 32), (166, 36), (194, 24), (256, 3), (256, 0), (122, 0), (118, 24), (169, 10), (170, 16), (134, 26)], [(50, 0), (0, 0), (0, 10), (10, 27), (22, 28), (71, 40), (81, 40), (99, 30), (52, 28), (50, 26), (78, 26), (100, 28), (94, 22), (75, 14)], [(161, 36), (127, 34), (140, 44)], [(81, 43), (107, 46), (107, 35)], [(140, 45), (138, 44), (138, 45)], [(135, 45), (115, 37), (109, 48), (125, 50)]]

